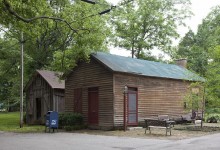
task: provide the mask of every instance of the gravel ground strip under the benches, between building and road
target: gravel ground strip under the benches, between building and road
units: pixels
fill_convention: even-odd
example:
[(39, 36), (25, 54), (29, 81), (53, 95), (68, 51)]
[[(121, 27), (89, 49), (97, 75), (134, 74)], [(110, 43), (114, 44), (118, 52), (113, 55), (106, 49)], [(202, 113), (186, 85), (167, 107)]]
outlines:
[(155, 128), (151, 134), (149, 131), (145, 134), (145, 129), (133, 129), (124, 132), (123, 130), (114, 131), (100, 131), (100, 130), (79, 130), (74, 133), (84, 133), (92, 135), (105, 135), (105, 136), (118, 136), (118, 137), (135, 137), (135, 138), (155, 138), (155, 139), (168, 139), (168, 140), (181, 140), (192, 137), (200, 137), (204, 135), (210, 135), (220, 133), (220, 124), (204, 123), (202, 131), (199, 125), (185, 124), (175, 125), (172, 128), (172, 135), (166, 136), (164, 129)]

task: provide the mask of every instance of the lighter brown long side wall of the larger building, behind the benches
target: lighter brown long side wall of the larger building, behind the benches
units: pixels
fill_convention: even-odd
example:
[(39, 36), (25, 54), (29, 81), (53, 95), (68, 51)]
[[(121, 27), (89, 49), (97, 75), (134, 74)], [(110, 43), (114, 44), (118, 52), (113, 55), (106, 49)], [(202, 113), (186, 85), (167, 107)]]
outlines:
[(189, 82), (173, 79), (114, 74), (114, 126), (123, 125), (123, 88), (137, 88), (138, 122), (158, 115), (180, 117), (185, 114), (183, 98)]

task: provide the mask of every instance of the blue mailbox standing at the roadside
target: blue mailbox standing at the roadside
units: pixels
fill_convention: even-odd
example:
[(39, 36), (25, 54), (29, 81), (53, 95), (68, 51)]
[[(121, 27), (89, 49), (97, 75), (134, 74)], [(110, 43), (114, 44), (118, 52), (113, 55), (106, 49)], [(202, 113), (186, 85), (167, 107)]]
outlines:
[(45, 132), (47, 129), (57, 129), (58, 130), (58, 112), (56, 111), (48, 111), (46, 114), (46, 126), (45, 126)]

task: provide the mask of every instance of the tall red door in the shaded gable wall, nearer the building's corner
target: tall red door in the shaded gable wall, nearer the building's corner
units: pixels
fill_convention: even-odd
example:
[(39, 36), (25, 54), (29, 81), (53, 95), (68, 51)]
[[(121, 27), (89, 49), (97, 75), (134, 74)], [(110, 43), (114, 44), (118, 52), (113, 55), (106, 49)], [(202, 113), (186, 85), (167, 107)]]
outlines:
[(99, 99), (98, 88), (89, 88), (88, 95), (88, 123), (90, 125), (98, 125), (99, 121)]

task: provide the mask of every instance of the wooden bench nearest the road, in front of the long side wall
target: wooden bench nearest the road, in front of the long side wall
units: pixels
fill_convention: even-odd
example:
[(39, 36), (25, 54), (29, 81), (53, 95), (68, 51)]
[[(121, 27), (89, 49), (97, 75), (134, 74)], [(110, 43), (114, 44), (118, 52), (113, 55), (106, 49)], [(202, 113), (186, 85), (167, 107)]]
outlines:
[(145, 134), (146, 130), (149, 130), (151, 134), (151, 128), (160, 128), (160, 129), (165, 129), (166, 130), (166, 136), (167, 132), (170, 132), (171, 135), (171, 123), (166, 120), (157, 120), (157, 119), (144, 119), (145, 120)]

